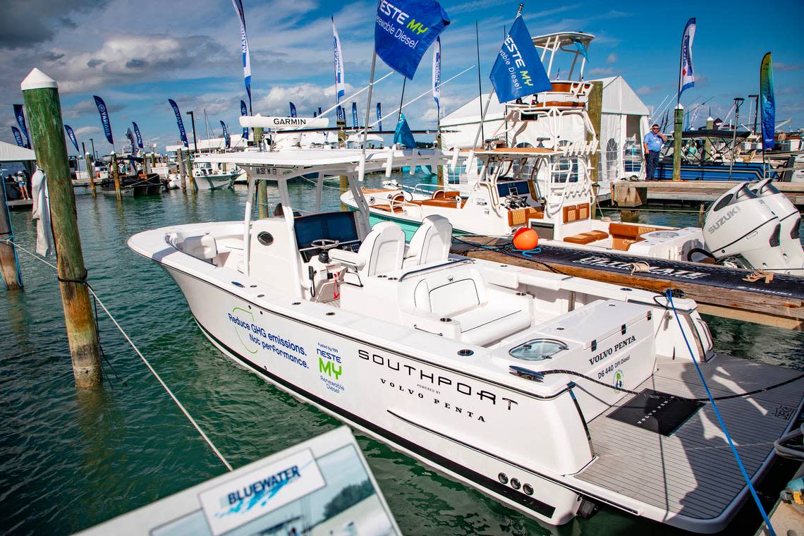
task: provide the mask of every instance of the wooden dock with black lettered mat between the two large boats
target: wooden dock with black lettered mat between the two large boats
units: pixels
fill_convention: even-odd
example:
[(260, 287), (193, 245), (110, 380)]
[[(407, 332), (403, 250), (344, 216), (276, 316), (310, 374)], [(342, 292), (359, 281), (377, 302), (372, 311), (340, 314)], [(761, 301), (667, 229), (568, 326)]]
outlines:
[[(452, 252), (558, 272), (567, 276), (601, 280), (628, 288), (662, 293), (679, 290), (698, 302), (701, 313), (774, 327), (804, 330), (804, 278), (773, 274), (773, 280), (745, 281), (748, 270), (680, 260), (648, 259), (640, 256), (588, 250), (539, 246), (532, 256), (511, 249), (511, 240), (488, 236), (453, 240)], [(647, 263), (646, 271), (635, 271), (634, 263)]]

